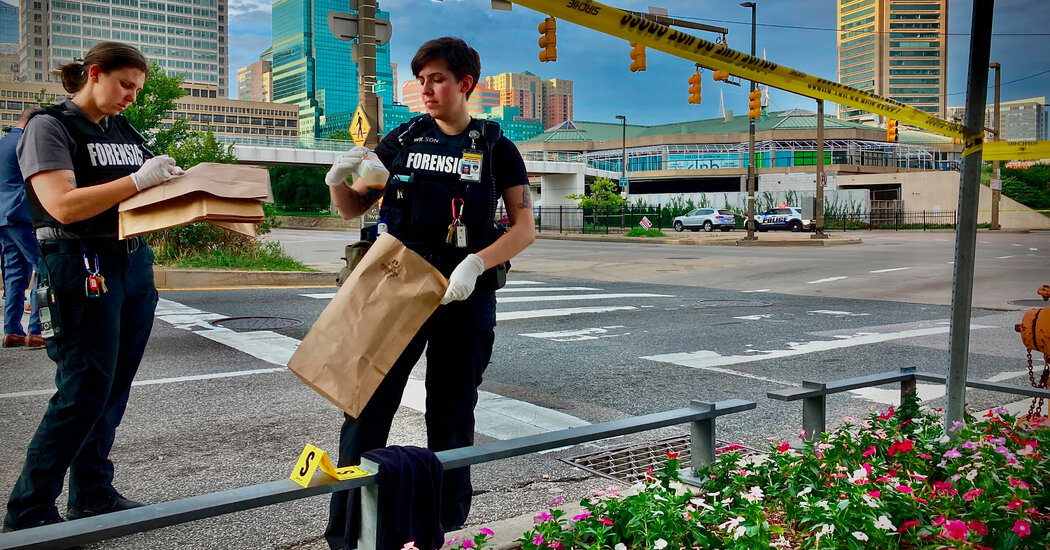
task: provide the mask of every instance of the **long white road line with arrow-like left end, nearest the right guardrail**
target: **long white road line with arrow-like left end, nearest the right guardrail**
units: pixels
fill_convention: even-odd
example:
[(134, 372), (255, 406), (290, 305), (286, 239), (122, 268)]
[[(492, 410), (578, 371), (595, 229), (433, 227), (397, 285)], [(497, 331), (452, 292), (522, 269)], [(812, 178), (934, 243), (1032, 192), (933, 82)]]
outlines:
[[(911, 331), (900, 331), (896, 333), (861, 334), (855, 336), (844, 336), (835, 340), (789, 342), (788, 346), (790, 347), (790, 350), (768, 350), (768, 351), (749, 350), (749, 353), (762, 354), (757, 356), (756, 355), (723, 356), (717, 352), (701, 350), (698, 352), (652, 355), (652, 356), (642, 357), (642, 359), (649, 359), (650, 361), (658, 361), (662, 363), (672, 363), (680, 366), (700, 368), (705, 371), (726, 372), (726, 374), (735, 374), (746, 378), (755, 378), (754, 375), (737, 373), (735, 371), (729, 371), (719, 367), (739, 364), (739, 363), (750, 363), (752, 361), (765, 361), (768, 359), (782, 359), (785, 357), (796, 357), (800, 355), (806, 355), (819, 352), (828, 352), (832, 350), (841, 350), (843, 347), (854, 347), (858, 345), (888, 342), (891, 340), (902, 340), (905, 338), (915, 338), (918, 336), (932, 336), (938, 334), (945, 334), (948, 332), (948, 329), (949, 329), (948, 326), (931, 326), (928, 329), (916, 329)], [(993, 326), (983, 325), (983, 324), (970, 325), (970, 330), (978, 330), (978, 329), (993, 329)]]

